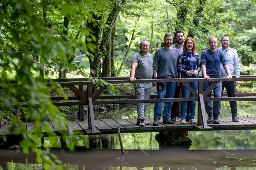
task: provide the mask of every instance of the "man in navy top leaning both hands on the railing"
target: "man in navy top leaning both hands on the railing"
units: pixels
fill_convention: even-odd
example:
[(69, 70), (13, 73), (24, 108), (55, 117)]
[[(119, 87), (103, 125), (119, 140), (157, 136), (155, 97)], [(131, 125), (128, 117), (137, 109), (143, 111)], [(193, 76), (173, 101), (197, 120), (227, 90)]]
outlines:
[[(208, 82), (203, 82), (203, 91), (205, 91), (214, 82), (211, 78), (221, 78), (220, 63), (222, 63), (227, 77), (226, 80), (230, 81), (232, 76), (229, 71), (229, 67), (226, 62), (226, 57), (224, 53), (217, 49), (218, 39), (215, 36), (210, 36), (208, 44), (209, 49), (202, 51), (201, 53), (201, 64), (202, 64), (202, 78), (208, 80)], [(221, 98), (222, 82), (219, 82), (213, 88), (213, 94), (216, 98)], [(211, 98), (212, 92), (210, 92), (206, 98)], [(221, 111), (221, 101), (214, 101), (213, 105), (211, 101), (204, 102), (205, 111), (208, 114), (207, 123), (219, 124), (218, 116)]]

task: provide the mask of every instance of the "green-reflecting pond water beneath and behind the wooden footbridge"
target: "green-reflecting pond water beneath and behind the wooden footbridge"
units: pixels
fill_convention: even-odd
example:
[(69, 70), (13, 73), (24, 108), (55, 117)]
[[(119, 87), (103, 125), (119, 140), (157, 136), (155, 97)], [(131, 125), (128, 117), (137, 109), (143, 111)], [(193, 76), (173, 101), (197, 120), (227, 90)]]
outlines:
[[(238, 115), (254, 116), (255, 102), (238, 102)], [(153, 117), (154, 104), (149, 105), (148, 115)], [(228, 102), (222, 102), (220, 116), (230, 117)], [(136, 119), (133, 105), (116, 111), (96, 114), (101, 118)], [(60, 137), (48, 137), (45, 147), (51, 147), (59, 159), (70, 169), (216, 169), (216, 170), (256, 170), (256, 140), (254, 130), (232, 131), (191, 131), (188, 137), (191, 146), (160, 147), (155, 140), (158, 133), (121, 134), (125, 155), (122, 156), (117, 134), (100, 136), (68, 136), (75, 152), (61, 148)], [(40, 146), (40, 140), (38, 140)], [(43, 169), (36, 164), (33, 153), (0, 150), (0, 170)], [(56, 169), (51, 167), (51, 169)]]

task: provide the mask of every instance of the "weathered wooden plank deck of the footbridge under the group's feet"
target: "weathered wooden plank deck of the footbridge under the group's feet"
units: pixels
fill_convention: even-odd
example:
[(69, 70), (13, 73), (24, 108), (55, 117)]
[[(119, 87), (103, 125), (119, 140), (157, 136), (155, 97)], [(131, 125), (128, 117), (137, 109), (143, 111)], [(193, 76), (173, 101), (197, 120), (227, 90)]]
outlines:
[[(120, 128), (122, 133), (146, 133), (146, 132), (168, 132), (168, 131), (215, 131), (215, 130), (248, 130), (256, 129), (256, 117), (239, 117), (240, 122), (232, 122), (231, 117), (219, 117), (219, 124), (209, 123), (208, 128), (205, 129), (197, 124), (180, 124), (180, 119), (176, 119), (174, 124), (162, 124), (159, 126), (153, 126), (152, 119), (145, 119), (149, 122), (149, 125), (140, 127), (137, 125), (137, 119), (102, 119), (96, 120), (96, 132), (92, 133), (88, 127), (88, 120), (85, 121), (70, 121), (69, 125), (65, 125), (62, 128), (58, 128), (50, 122), (46, 123), (48, 130), (42, 129), (41, 132), (60, 132), (60, 131), (82, 131), (86, 135), (101, 135), (117, 133), (117, 127)], [(27, 131), (34, 133), (33, 127), (37, 126), (35, 123), (26, 123)], [(0, 124), (0, 135), (12, 135), (13, 129), (9, 132), (9, 129), (13, 128), (13, 124)], [(45, 133), (45, 135), (48, 135)]]

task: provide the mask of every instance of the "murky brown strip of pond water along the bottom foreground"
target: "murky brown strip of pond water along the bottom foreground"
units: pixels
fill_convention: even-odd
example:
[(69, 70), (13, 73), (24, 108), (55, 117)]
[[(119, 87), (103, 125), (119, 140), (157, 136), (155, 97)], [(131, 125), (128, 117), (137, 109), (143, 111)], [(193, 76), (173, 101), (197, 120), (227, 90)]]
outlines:
[[(188, 150), (186, 147), (125, 150), (124, 156), (119, 149), (83, 149), (76, 152), (53, 149), (52, 152), (72, 170), (255, 169), (256, 159), (254, 150)], [(34, 154), (0, 150), (0, 155), (0, 169), (43, 169), (41, 164), (36, 164)]]

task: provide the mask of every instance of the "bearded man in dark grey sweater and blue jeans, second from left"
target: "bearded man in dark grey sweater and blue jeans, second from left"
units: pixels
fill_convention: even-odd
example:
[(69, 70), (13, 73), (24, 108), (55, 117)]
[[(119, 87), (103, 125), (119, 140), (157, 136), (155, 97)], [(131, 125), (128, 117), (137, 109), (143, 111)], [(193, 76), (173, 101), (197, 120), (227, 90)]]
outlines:
[[(153, 63), (153, 79), (177, 79), (177, 60), (180, 55), (179, 50), (172, 48), (173, 37), (170, 33), (166, 33), (163, 41), (165, 46), (156, 50)], [(157, 76), (156, 76), (157, 73)], [(165, 93), (166, 98), (173, 98), (176, 82), (154, 83), (157, 88), (157, 99), (163, 99)], [(154, 126), (159, 125), (162, 112), (162, 102), (155, 103), (154, 107)], [(170, 120), (172, 102), (165, 102), (163, 111), (163, 123), (173, 124)]]

